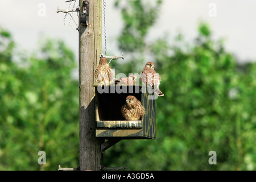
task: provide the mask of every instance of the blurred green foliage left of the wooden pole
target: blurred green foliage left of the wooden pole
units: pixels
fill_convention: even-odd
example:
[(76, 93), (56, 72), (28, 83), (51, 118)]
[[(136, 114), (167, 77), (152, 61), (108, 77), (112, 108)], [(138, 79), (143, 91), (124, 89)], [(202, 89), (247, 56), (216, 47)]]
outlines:
[[(14, 43), (1, 31), (0, 169), (57, 170), (79, 163), (79, 91), (74, 55), (60, 40), (44, 39), (32, 56), (14, 62)], [(46, 152), (46, 165), (38, 152)]]

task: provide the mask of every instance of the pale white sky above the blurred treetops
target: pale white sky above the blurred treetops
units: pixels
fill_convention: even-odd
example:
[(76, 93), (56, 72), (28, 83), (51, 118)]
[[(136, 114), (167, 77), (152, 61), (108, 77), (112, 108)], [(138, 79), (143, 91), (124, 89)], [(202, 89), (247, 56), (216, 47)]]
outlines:
[[(43, 35), (60, 38), (75, 52), (78, 59), (78, 32), (69, 15), (63, 25), (64, 14), (57, 14), (57, 7), (67, 9), (67, 0), (0, 0), (0, 26), (10, 31), (18, 46), (27, 51), (38, 48)], [(45, 5), (45, 15), (42, 6)], [(73, 8), (73, 3), (71, 9)], [(216, 5), (216, 16), (209, 16), (210, 3)], [(79, 5), (77, 0), (75, 7)], [(235, 53), (240, 63), (256, 60), (256, 1), (255, 0), (164, 0), (160, 16), (152, 27), (149, 38), (171, 38), (181, 32), (187, 40), (197, 35), (197, 23), (210, 23), (214, 39), (226, 38), (226, 48)], [(41, 14), (42, 15), (42, 14)], [(73, 17), (78, 23), (76, 13)], [(108, 53), (119, 55), (117, 38), (122, 28), (120, 11), (114, 8), (114, 0), (106, 0), (106, 34)], [(171, 40), (171, 39), (170, 39)], [(105, 52), (102, 42), (102, 52)]]

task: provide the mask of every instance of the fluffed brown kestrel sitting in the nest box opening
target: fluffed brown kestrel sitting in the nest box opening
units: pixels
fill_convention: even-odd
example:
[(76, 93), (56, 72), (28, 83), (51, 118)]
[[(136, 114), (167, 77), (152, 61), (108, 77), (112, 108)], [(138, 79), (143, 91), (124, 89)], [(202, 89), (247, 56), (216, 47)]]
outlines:
[(127, 121), (139, 121), (145, 114), (145, 109), (136, 97), (128, 96), (125, 105), (121, 108), (121, 113)]

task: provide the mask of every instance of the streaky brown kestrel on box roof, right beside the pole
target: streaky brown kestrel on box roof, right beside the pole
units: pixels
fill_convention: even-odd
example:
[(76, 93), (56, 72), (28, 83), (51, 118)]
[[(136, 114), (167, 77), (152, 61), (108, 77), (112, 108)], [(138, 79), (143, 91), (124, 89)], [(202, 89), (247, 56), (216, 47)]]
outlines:
[(94, 71), (94, 77), (100, 85), (114, 84), (114, 71), (108, 65), (108, 60), (105, 57), (100, 59), (100, 64)]

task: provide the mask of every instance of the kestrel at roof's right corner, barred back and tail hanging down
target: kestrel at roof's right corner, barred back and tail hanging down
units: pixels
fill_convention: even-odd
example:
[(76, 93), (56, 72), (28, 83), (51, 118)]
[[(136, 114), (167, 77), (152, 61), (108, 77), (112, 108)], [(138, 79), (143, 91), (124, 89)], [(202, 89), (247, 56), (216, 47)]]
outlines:
[(159, 89), (161, 77), (155, 72), (154, 63), (147, 62), (145, 68), (141, 72), (141, 81), (143, 84), (151, 86), (158, 96), (164, 96), (163, 92)]

